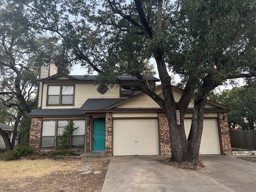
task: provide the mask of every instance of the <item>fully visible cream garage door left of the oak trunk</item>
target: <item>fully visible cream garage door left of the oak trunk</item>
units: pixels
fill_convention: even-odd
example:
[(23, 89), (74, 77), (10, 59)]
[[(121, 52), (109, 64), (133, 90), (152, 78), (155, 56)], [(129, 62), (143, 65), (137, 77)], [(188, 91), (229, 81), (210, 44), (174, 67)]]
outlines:
[(113, 155), (158, 155), (157, 119), (113, 120)]

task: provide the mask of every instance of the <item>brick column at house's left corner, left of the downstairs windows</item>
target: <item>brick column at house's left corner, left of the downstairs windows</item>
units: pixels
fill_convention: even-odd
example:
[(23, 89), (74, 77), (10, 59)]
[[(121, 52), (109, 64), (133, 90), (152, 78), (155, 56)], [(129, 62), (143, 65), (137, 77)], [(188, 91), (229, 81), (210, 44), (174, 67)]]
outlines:
[(39, 152), (42, 130), (42, 118), (31, 118), (29, 147), (33, 151)]

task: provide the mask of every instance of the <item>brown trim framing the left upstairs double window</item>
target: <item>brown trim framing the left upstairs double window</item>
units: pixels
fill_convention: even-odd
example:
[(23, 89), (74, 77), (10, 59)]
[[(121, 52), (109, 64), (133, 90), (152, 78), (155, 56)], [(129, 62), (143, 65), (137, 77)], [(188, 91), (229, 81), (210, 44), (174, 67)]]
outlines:
[[(49, 86), (60, 86), (59, 104), (48, 104), (49, 96), (51, 96), (51, 95), (49, 95)], [(62, 86), (73, 86), (73, 95), (63, 95), (63, 96), (73, 96), (72, 104), (61, 104), (61, 102), (62, 102)], [(74, 106), (74, 97), (75, 97), (75, 84), (48, 84), (47, 85), (46, 106)]]

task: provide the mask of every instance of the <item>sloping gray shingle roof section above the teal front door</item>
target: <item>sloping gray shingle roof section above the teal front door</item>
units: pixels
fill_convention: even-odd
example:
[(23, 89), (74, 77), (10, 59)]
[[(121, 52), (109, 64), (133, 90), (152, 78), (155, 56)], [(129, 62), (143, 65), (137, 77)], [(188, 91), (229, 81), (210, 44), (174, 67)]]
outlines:
[(100, 109), (109, 107), (110, 105), (113, 105), (115, 103), (118, 103), (124, 99), (125, 98), (87, 99), (79, 110), (83, 110), (83, 111), (100, 110)]

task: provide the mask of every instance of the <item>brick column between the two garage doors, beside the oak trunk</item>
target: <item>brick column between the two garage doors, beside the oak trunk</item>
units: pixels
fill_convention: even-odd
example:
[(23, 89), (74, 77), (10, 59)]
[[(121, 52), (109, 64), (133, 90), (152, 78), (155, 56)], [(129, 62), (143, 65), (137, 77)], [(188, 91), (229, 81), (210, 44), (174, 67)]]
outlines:
[(161, 154), (171, 153), (170, 133), (165, 113), (158, 113), (159, 143)]

